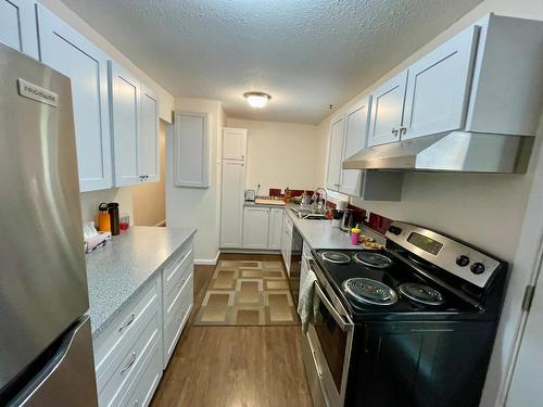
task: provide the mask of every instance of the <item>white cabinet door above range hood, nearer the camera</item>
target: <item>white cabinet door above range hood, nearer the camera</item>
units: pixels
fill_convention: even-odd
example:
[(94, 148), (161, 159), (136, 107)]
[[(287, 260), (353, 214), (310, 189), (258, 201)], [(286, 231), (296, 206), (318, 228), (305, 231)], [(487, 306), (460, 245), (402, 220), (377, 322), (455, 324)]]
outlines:
[(464, 128), (478, 27), (409, 66), (402, 139)]

